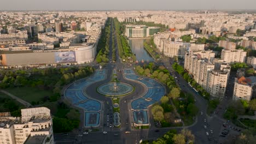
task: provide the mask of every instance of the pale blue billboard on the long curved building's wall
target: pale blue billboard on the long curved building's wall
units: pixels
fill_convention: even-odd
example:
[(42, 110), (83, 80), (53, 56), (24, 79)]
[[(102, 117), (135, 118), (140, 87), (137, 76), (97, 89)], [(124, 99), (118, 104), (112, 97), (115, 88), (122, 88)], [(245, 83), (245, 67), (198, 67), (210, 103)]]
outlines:
[(56, 63), (75, 62), (74, 51), (55, 52), (54, 54)]

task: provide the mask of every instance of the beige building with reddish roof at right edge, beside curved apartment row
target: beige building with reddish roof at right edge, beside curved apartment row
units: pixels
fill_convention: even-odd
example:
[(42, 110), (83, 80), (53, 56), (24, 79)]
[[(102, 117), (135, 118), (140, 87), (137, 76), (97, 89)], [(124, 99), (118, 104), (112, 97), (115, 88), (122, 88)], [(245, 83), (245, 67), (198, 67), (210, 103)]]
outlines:
[(240, 77), (235, 79), (233, 100), (243, 99), (250, 101), (255, 97), (256, 77)]

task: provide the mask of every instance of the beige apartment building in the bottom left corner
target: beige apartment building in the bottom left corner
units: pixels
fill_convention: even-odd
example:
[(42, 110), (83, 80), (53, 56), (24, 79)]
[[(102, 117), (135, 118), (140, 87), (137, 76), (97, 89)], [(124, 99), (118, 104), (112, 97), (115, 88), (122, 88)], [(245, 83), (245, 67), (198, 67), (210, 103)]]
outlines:
[(21, 118), (1, 114), (0, 143), (54, 143), (53, 119), (48, 108), (22, 109)]

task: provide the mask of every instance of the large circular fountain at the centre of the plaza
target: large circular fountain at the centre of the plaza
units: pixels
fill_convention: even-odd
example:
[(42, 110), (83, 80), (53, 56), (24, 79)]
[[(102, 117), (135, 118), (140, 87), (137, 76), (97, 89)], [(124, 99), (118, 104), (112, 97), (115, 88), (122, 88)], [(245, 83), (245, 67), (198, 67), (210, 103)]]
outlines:
[(98, 92), (108, 96), (126, 95), (133, 91), (133, 87), (123, 82), (110, 82), (98, 87)]

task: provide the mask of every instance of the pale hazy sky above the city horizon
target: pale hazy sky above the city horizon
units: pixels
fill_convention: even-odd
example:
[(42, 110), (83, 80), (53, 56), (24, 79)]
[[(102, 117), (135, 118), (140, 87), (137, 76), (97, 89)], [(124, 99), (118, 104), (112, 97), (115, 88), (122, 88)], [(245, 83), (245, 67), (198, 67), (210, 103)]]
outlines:
[(252, 9), (256, 0), (0, 0), (0, 10)]

